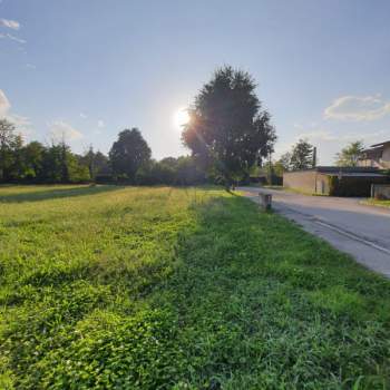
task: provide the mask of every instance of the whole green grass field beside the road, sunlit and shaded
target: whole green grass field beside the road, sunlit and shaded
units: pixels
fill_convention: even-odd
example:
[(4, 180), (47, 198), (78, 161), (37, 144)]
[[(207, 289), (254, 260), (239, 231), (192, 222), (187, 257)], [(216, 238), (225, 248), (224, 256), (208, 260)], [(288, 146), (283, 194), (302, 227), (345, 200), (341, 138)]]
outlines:
[(388, 389), (390, 282), (216, 188), (0, 187), (0, 389)]

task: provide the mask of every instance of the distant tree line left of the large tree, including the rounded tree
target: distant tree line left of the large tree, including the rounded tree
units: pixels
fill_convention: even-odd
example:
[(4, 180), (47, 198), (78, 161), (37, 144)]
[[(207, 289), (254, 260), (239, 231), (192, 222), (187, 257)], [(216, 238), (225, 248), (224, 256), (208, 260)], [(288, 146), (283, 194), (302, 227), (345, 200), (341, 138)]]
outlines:
[(80, 155), (65, 140), (26, 144), (13, 124), (0, 119), (0, 183), (188, 185), (205, 179), (191, 156), (153, 159), (137, 128), (120, 131), (108, 156), (92, 147)]

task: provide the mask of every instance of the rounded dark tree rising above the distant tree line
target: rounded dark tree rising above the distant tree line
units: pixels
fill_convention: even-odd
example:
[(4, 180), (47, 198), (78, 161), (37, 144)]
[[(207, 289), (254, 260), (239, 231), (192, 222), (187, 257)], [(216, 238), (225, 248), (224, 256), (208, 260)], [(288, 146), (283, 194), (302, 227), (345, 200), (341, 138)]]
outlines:
[(146, 164), (152, 152), (137, 128), (123, 130), (109, 150), (109, 160), (116, 176), (135, 181), (137, 170)]

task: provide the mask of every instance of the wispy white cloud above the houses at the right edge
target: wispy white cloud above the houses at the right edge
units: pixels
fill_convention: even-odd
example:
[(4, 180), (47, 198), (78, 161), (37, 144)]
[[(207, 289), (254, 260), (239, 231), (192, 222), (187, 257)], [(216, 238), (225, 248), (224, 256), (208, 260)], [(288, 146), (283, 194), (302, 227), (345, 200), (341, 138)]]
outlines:
[(380, 96), (342, 96), (325, 108), (325, 119), (374, 120), (390, 114), (390, 101)]

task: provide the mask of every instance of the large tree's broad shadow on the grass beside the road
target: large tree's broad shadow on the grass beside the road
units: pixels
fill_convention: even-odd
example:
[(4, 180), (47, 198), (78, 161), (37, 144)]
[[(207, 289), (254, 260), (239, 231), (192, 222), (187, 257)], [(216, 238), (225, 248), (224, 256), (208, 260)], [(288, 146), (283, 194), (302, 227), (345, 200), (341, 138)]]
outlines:
[(388, 281), (248, 199), (220, 197), (193, 211), (197, 224), (176, 248), (181, 265), (154, 296), (154, 308), (178, 318), (192, 367), (184, 382), (387, 388)]

